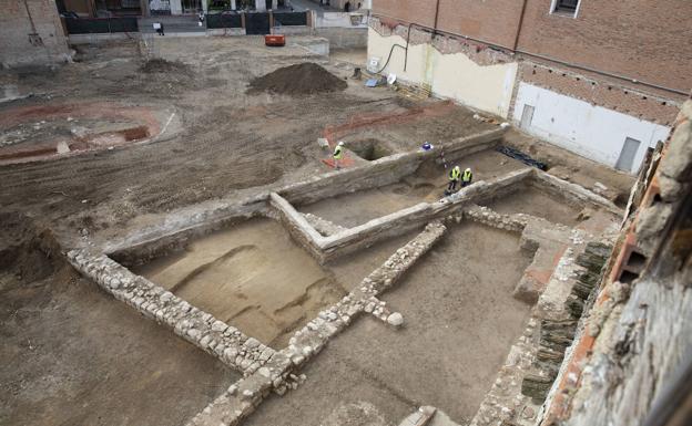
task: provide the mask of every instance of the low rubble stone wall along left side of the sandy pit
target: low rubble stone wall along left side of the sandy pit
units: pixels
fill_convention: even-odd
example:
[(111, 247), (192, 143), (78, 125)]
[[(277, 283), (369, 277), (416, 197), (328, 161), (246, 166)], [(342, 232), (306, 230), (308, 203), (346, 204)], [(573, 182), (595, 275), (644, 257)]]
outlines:
[(72, 250), (68, 252), (68, 260), (80, 273), (115, 299), (172, 329), (179, 336), (244, 375), (257, 371), (275, 353), (256, 339), (246, 336), (170, 291), (135, 276), (105, 254)]

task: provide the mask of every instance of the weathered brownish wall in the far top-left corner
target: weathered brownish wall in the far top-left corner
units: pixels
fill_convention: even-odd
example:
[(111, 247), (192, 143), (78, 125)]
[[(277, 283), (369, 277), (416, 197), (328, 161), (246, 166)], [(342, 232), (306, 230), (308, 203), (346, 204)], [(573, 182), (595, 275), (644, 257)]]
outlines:
[[(0, 13), (0, 65), (19, 66), (65, 62), (69, 49), (55, 2), (6, 0)], [(34, 32), (38, 37), (30, 37)]]

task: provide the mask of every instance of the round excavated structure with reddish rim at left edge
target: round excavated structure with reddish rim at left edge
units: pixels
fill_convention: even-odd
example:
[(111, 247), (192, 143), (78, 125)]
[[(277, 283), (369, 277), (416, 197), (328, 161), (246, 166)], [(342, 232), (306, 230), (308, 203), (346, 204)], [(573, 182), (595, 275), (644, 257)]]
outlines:
[(0, 164), (45, 160), (144, 142), (159, 136), (162, 123), (172, 117), (170, 112), (116, 103), (3, 108)]

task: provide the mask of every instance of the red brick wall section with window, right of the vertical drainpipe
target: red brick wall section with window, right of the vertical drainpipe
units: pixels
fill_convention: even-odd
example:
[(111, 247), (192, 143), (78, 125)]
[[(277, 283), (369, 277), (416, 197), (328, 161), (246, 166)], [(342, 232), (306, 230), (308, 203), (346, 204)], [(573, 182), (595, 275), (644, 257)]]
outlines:
[(581, 0), (576, 19), (528, 0), (519, 49), (689, 92), (692, 1)]

